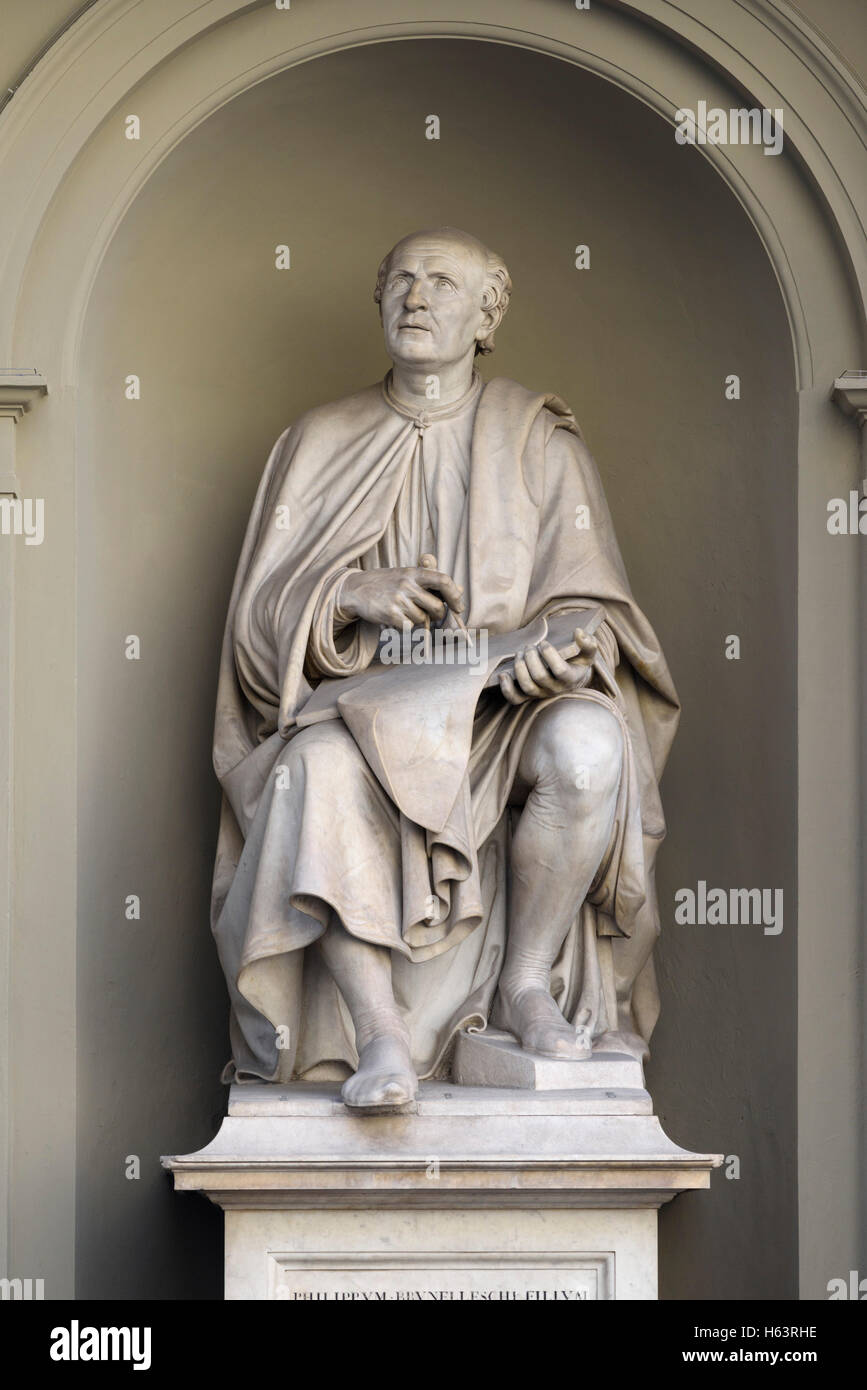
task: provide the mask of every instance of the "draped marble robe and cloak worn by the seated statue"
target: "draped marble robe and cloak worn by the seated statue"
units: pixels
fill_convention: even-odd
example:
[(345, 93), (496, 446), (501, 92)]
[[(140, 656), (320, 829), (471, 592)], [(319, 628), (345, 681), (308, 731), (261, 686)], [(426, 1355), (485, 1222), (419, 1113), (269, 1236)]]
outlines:
[[(395, 806), (342, 720), (299, 728), (322, 677), (367, 669), (379, 638), (340, 624), (349, 569), (434, 552), (464, 588), (470, 628), (604, 606), (618, 696), (602, 703), (624, 764), (609, 849), (552, 970), (564, 1015), (617, 1027), (618, 941), (659, 931), (659, 796), (679, 706), (632, 598), (596, 466), (568, 406), (507, 378), (475, 382), (420, 431), (382, 384), (317, 407), (276, 441), (261, 478), (222, 646), (214, 767), (222, 813), (213, 929), (232, 1004), (225, 1080), (342, 1079), (357, 1063), (346, 1004), (313, 947), (332, 915), (392, 951), (420, 1076), (447, 1074), (461, 1027), (484, 1027), (506, 942), (510, 794), (547, 701), (479, 699), (472, 748), (438, 833)], [(567, 869), (567, 866), (564, 866)], [(431, 903), (436, 910), (431, 913)], [(622, 970), (620, 970), (622, 976)], [(652, 958), (634, 988), (649, 1037)]]

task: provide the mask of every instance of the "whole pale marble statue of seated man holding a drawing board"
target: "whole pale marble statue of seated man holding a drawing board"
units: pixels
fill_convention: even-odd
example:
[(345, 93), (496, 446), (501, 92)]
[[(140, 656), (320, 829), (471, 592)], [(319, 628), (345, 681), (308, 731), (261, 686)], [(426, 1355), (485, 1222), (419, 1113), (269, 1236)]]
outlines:
[[(678, 701), (571, 410), (475, 370), (510, 293), (474, 236), (406, 236), (385, 381), (265, 467), (215, 721), (226, 1080), (338, 1080), (377, 1113), (465, 1030), (646, 1054)], [(477, 660), (388, 666), (395, 631)]]

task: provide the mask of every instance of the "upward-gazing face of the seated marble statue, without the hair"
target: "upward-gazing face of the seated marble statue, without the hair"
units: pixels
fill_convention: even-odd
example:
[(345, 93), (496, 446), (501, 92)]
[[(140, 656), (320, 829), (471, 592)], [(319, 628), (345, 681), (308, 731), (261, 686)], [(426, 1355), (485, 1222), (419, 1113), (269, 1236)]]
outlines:
[(488, 331), (485, 264), (470, 245), (446, 236), (410, 238), (395, 247), (382, 291), (389, 357), (407, 367), (460, 361)]

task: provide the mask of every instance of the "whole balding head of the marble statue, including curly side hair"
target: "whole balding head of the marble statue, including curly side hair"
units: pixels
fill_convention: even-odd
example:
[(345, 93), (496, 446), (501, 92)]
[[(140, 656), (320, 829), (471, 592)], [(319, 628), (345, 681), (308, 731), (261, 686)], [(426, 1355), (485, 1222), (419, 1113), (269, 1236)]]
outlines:
[(379, 267), (374, 299), (395, 361), (436, 370), (493, 352), (511, 279), (495, 252), (456, 227), (404, 236)]

